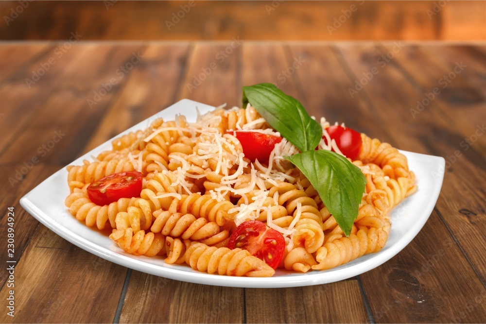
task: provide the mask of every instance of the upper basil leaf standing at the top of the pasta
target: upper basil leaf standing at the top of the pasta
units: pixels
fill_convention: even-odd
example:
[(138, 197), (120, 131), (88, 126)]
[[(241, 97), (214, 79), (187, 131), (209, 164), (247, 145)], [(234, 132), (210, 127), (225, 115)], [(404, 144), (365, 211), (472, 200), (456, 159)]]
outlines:
[(250, 103), (260, 115), (301, 152), (314, 150), (322, 137), (321, 125), (312, 119), (298, 100), (275, 85), (243, 86), (243, 108)]

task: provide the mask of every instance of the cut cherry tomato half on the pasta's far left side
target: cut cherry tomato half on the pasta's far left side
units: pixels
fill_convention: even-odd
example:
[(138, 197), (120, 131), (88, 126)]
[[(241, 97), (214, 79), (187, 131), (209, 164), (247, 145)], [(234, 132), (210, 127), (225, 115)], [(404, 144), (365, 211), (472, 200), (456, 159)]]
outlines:
[(88, 186), (88, 197), (96, 205), (108, 205), (120, 198), (140, 197), (142, 174), (126, 171), (108, 175)]

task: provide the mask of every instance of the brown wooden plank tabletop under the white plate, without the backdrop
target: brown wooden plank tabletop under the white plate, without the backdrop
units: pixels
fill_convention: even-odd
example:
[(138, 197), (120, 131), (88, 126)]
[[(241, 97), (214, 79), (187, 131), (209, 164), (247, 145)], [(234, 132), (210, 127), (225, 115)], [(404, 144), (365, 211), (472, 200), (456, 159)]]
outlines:
[[(54, 171), (174, 102), (238, 105), (242, 85), (260, 82), (276, 83), (315, 116), (446, 157), (437, 205), (397, 256), (327, 285), (204, 286), (93, 256), (20, 207), (20, 197)], [(484, 43), (3, 42), (0, 96), (2, 322), (486, 320)], [(15, 318), (5, 308), (10, 206)]]

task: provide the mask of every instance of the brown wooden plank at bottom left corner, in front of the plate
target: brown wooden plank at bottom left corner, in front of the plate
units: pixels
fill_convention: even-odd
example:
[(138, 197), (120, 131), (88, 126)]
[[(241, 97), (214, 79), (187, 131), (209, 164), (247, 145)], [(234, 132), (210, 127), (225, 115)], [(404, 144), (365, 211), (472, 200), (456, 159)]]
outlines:
[[(126, 271), (39, 225), (15, 267), (15, 318), (10, 321), (112, 323)], [(2, 300), (9, 290), (3, 286)]]

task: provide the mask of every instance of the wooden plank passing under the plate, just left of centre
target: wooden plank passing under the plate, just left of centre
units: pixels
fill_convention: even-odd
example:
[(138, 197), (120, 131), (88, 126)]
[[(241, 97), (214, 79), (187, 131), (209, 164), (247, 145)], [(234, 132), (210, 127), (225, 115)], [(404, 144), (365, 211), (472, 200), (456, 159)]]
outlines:
[[(177, 99), (188, 98), (215, 105), (224, 101), (236, 102), (237, 56), (228, 54), (224, 62), (218, 62), (215, 58), (215, 55), (225, 50), (228, 45), (230, 44), (217, 46), (196, 44), (191, 51), (191, 56), (187, 58), (186, 70), (180, 69), (184, 73), (180, 76), (182, 80), (174, 82), (178, 84), (178, 88), (171, 87), (174, 94), (168, 92), (168, 98), (177, 96)], [(193, 74), (199, 73), (204, 68), (210, 68), (215, 60), (218, 62), (217, 68), (212, 69), (207, 79), (197, 89), (189, 92), (186, 85), (193, 81)], [(164, 73), (164, 70), (157, 69), (154, 78), (158, 78), (159, 73)], [(127, 85), (126, 91), (130, 92), (130, 89), (131, 87)], [(147, 294), (160, 297), (147, 298)], [(244, 318), (243, 294), (243, 289), (182, 283), (134, 272), (127, 287), (120, 321), (123, 323), (241, 323)], [(154, 312), (153, 309), (160, 309), (160, 305), (165, 306), (160, 311)]]

